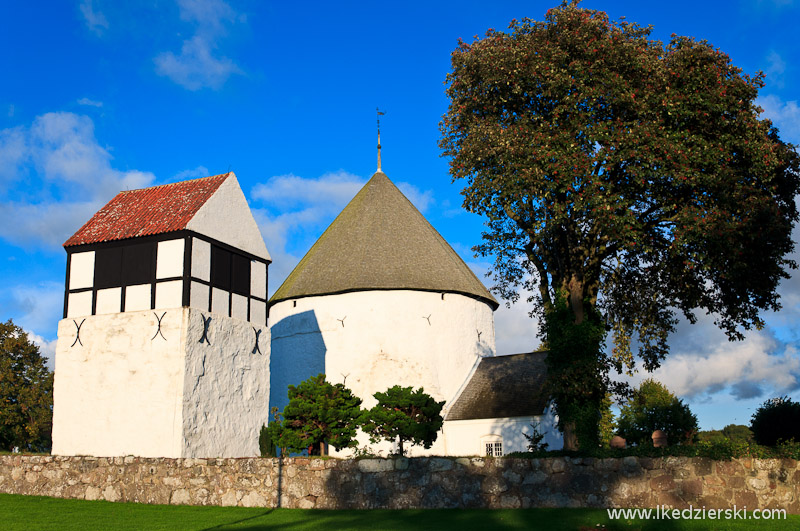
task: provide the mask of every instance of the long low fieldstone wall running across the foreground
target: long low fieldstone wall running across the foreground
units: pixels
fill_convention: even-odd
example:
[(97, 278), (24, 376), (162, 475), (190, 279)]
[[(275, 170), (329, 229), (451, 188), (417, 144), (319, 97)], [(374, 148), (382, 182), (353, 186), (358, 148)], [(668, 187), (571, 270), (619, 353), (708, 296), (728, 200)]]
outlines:
[(119, 502), (324, 509), (779, 508), (791, 459), (166, 459), (0, 456), (0, 492)]

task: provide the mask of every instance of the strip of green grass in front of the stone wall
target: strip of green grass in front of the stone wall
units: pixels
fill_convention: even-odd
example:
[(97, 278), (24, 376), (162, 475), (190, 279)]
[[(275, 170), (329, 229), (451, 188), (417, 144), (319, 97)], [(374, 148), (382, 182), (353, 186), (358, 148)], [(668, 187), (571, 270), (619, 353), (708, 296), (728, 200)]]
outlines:
[[(599, 525), (598, 525), (599, 524)], [(605, 527), (601, 527), (605, 526)], [(104, 501), (62, 500), (0, 494), (0, 529), (800, 529), (800, 516), (786, 520), (611, 521), (604, 509), (518, 510), (374, 510), (321, 511), (139, 505)]]

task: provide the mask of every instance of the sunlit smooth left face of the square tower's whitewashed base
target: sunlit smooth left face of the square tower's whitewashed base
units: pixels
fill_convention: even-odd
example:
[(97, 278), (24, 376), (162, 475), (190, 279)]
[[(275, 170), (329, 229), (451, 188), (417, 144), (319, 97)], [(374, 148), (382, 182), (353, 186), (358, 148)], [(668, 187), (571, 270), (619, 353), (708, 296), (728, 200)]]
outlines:
[(167, 311), (166, 341), (152, 311), (81, 319), (80, 343), (58, 323), (53, 453), (181, 457), (184, 312)]

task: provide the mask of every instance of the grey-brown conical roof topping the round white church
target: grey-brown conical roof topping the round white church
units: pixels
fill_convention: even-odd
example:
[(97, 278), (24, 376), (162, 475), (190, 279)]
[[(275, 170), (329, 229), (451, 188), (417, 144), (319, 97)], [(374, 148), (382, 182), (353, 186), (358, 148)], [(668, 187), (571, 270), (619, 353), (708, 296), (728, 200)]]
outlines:
[(367, 290), (460, 293), (497, 301), (383, 173), (364, 185), (270, 299)]

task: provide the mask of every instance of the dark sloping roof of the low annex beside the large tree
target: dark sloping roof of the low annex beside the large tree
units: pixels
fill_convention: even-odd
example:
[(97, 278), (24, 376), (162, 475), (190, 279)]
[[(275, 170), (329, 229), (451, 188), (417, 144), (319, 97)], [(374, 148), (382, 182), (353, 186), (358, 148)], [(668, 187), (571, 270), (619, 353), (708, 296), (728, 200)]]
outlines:
[(481, 358), (445, 420), (493, 419), (541, 415), (547, 352)]

